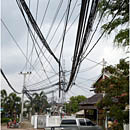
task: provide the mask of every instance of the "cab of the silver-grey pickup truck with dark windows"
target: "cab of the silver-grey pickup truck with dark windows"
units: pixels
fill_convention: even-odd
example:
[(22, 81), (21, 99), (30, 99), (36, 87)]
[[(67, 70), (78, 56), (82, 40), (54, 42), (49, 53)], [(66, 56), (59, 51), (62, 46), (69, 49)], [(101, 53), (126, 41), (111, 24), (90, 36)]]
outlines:
[(86, 118), (62, 119), (60, 127), (61, 130), (102, 130)]

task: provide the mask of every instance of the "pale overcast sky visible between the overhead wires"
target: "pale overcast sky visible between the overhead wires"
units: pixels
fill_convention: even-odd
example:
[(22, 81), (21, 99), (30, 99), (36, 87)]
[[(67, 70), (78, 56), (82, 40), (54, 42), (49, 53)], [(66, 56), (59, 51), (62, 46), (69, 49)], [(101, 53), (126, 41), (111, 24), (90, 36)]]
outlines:
[[(27, 3), (29, 0), (26, 0)], [(38, 7), (38, 13), (37, 13), (37, 23), (40, 26), (42, 17), (45, 12), (45, 8), (47, 6), (48, 0), (39, 0), (39, 7)], [(72, 8), (75, 5), (76, 0), (72, 1), (71, 5), (71, 11)], [(55, 16), (58, 4), (60, 3), (60, 0), (50, 0), (50, 4), (47, 10), (47, 13), (45, 15), (45, 19), (43, 22), (43, 26), (41, 28), (41, 31), (44, 35), (44, 37), (47, 37), (48, 30), (52, 24), (53, 18)], [(76, 2), (76, 7), (74, 9), (74, 12), (72, 14), (72, 17), (69, 20), (68, 23), (68, 28), (74, 21), (74, 19), (78, 16), (80, 12), (80, 4), (81, 0), (77, 0)], [(36, 7), (37, 7), (37, 0), (30, 0), (30, 10), (36, 18)], [(50, 43), (51, 38), (55, 32), (55, 29), (57, 28), (65, 10), (67, 7), (67, 1), (63, 0), (62, 6), (59, 9), (59, 13), (57, 13), (57, 18), (55, 22), (53, 23), (53, 28), (49, 34), (49, 36), (46, 38), (47, 42)], [(21, 12), (19, 11), (19, 8), (16, 4), (15, 0), (2, 0), (1, 1), (1, 17), (12, 35), (14, 36), (15, 40), (17, 41), (18, 45), (24, 52), (24, 54), (29, 58), (29, 54), (31, 53), (31, 49), (33, 46), (33, 43), (29, 37), (29, 42), (27, 45), (27, 27), (25, 24), (25, 21), (21, 15)], [(98, 19), (96, 19), (98, 20)], [(104, 21), (102, 21), (103, 23)], [(58, 41), (60, 40), (63, 29), (64, 29), (64, 23), (65, 19), (63, 19), (62, 23), (60, 24), (60, 27), (50, 43), (50, 48), (55, 52), (55, 55), (59, 57), (60, 54), (60, 48), (61, 48), (61, 42), (55, 51), (55, 47), (58, 44)], [(66, 34), (65, 38), (65, 44), (64, 44), (64, 50), (63, 50), (63, 59), (64, 59), (64, 64), (63, 67), (65, 68), (66, 71), (71, 70), (71, 65), (72, 65), (72, 56), (74, 52), (74, 45), (75, 45), (75, 39), (76, 39), (76, 31), (77, 31), (77, 24), (78, 19), (76, 22), (71, 26), (70, 30)], [(101, 24), (102, 24), (101, 23)], [(96, 23), (95, 23), (96, 24)], [(94, 24), (94, 25), (95, 25)], [(31, 28), (32, 29), (32, 28)], [(33, 30), (33, 29), (32, 29)], [(94, 28), (93, 28), (94, 30)], [(35, 70), (30, 66), (29, 63), (27, 63), (27, 67), (24, 67), (26, 65), (26, 58), (24, 55), (21, 53), (19, 48), (16, 46), (12, 38), (10, 37), (9, 33), (1, 23), (1, 51), (2, 51), (2, 69), (4, 73), (6, 74), (8, 80), (12, 84), (12, 86), (19, 92), (22, 91), (22, 85), (23, 85), (23, 76), (20, 75), (19, 73), (21, 71), (26, 72), (26, 71), (32, 71), (32, 74), (27, 77), (26, 79), (26, 84), (30, 85), (33, 83), (37, 83), (39, 81), (47, 79), (46, 74), (44, 73), (44, 69), (46, 70), (46, 73), (48, 77), (51, 77), (55, 75), (55, 73), (58, 73), (58, 64), (53, 58), (48, 58), (49, 53), (46, 51), (45, 56), (47, 59), (50, 61), (52, 67), (46, 62), (45, 57), (41, 57), (41, 60), (44, 64), (44, 68), (42, 68), (40, 62), (38, 61), (36, 64), (34, 64), (35, 59), (37, 58), (35, 50), (33, 51), (32, 56), (32, 62), (31, 58), (29, 59), (30, 62), (34, 65)], [(97, 46), (93, 49), (93, 51), (88, 55), (87, 58), (96, 61), (96, 62), (101, 62), (103, 58), (109, 65), (115, 65), (119, 62), (119, 59), (126, 57), (125, 53), (123, 52), (122, 49), (119, 49), (117, 47), (114, 47), (113, 44), (113, 38), (114, 38), (115, 32), (113, 32), (110, 36), (104, 36), (100, 40), (100, 42), (97, 44)], [(99, 28), (98, 31), (96, 32), (95, 37), (92, 40), (92, 43), (89, 47), (89, 49), (92, 47), (92, 45), (95, 43), (95, 41), (98, 39), (98, 37), (101, 35), (101, 29)], [(36, 34), (35, 34), (36, 36)], [(42, 43), (38, 39), (38, 44), (40, 47), (42, 47)], [(28, 49), (27, 49), (28, 46)], [(38, 49), (38, 47), (37, 47)], [(88, 49), (88, 50), (89, 50)], [(28, 53), (27, 53), (28, 50)], [(43, 49), (45, 50), (45, 48)], [(39, 52), (39, 49), (38, 49)], [(94, 81), (98, 78), (98, 76), (101, 74), (102, 66), (97, 65), (95, 68), (90, 69), (91, 67), (95, 66), (96, 64), (85, 59), (83, 63), (81, 64), (80, 67), (80, 73), (77, 76), (76, 83), (81, 86), (81, 88), (77, 86), (73, 86), (70, 91), (66, 94), (67, 99), (70, 96), (76, 96), (76, 95), (84, 95), (86, 97), (90, 97), (93, 95), (93, 92), (90, 92), (88, 89), (91, 89), (90, 87), (94, 83)], [(86, 71), (85, 71), (86, 70)], [(37, 75), (37, 73), (38, 75)], [(70, 73), (66, 72), (66, 79), (69, 79)], [(1, 89), (6, 89), (8, 93), (12, 92), (12, 90), (9, 88), (7, 83), (3, 78), (1, 78), (2, 83), (1, 83)], [(47, 86), (48, 84), (53, 84), (58, 82), (58, 75), (55, 76), (54, 78), (51, 78), (50, 81), (46, 80), (45, 82), (42, 82), (42, 84), (39, 84), (37, 86), (32, 86), (28, 87), (28, 89), (36, 89), (36, 88), (41, 88)], [(86, 89), (87, 88), (87, 89)], [(50, 91), (51, 89), (46, 90)], [(58, 93), (55, 94), (58, 98)], [(51, 97), (51, 95), (48, 95), (48, 97)]]

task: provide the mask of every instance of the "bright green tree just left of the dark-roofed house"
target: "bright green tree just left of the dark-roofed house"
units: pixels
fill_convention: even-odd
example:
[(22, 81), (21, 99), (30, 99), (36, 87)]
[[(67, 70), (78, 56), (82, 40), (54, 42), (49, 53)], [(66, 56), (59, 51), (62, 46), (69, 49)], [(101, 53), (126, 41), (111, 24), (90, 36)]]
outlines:
[(72, 96), (69, 103), (65, 103), (67, 113), (75, 113), (79, 111), (79, 103), (86, 100), (85, 96)]

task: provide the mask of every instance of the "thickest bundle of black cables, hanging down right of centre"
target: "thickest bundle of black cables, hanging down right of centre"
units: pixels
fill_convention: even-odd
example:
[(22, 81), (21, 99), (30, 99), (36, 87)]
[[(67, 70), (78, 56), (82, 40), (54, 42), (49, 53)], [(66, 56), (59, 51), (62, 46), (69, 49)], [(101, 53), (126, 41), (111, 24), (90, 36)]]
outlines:
[(71, 75), (65, 92), (67, 92), (70, 86), (73, 85), (73, 80), (74, 78), (76, 78), (76, 74), (79, 71), (81, 58), (83, 57), (84, 47), (88, 40), (95, 19), (97, 5), (98, 5), (98, 0), (93, 0), (91, 4), (90, 13), (89, 13), (90, 1), (82, 0)]

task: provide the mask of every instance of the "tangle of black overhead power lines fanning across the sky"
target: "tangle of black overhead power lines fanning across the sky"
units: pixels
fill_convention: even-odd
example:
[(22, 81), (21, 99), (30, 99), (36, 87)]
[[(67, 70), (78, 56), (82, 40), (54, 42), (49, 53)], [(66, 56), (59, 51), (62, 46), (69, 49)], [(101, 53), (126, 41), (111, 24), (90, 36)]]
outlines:
[[(31, 87), (31, 86), (35, 86), (35, 85), (38, 87), (41, 83), (46, 82), (47, 80), (49, 81), (49, 84), (50, 84), (48, 86), (53, 86), (55, 84), (54, 82), (51, 81), (51, 76), (48, 76), (46, 68), (45, 68), (45, 64), (43, 63), (43, 61), (41, 59), (41, 57), (44, 56), (46, 62), (48, 62), (49, 66), (52, 68), (52, 70), (55, 73), (54, 77), (58, 78), (58, 74), (59, 74), (59, 82), (57, 82), (56, 85), (59, 85), (59, 93), (60, 93), (60, 91), (61, 91), (61, 87), (60, 87), (61, 86), (61, 71), (63, 71), (62, 64), (61, 64), (61, 56), (63, 54), (63, 48), (64, 48), (64, 44), (65, 44), (66, 33), (72, 27), (73, 23), (79, 18), (78, 28), (77, 28), (77, 35), (76, 35), (76, 40), (75, 40), (75, 48), (74, 48), (74, 52), (73, 52), (72, 66), (71, 66), (70, 75), (69, 75), (69, 81), (67, 83), (66, 89), (64, 89), (65, 92), (68, 92), (69, 89), (73, 86), (73, 82), (77, 78), (77, 75), (78, 75), (79, 70), (80, 70), (81, 63), (85, 59), (87, 59), (87, 56), (91, 53), (91, 51), (94, 49), (94, 47), (97, 45), (99, 40), (102, 38), (102, 36), (106, 32), (106, 30), (104, 30), (104, 32), (100, 35), (100, 37), (97, 39), (97, 41), (93, 44), (92, 48), (90, 48), (90, 50), (88, 50), (88, 48), (89, 48), (89, 46), (90, 46), (90, 44), (92, 42), (92, 39), (93, 39), (93, 37), (94, 37), (94, 35), (95, 35), (96, 31), (97, 31), (97, 28), (98, 28), (98, 26), (99, 26), (99, 24), (101, 22), (104, 11), (102, 12), (102, 14), (101, 14), (101, 16), (99, 18), (99, 21), (98, 21), (98, 23), (96, 25), (96, 28), (95, 28), (93, 34), (90, 37), (90, 34), (92, 32), (92, 27), (93, 27), (93, 24), (94, 24), (94, 20), (96, 18), (96, 14), (97, 14), (97, 7), (98, 7), (99, 0), (91, 0), (91, 2), (88, 1), (88, 0), (81, 0), (80, 14), (78, 14), (76, 16), (76, 18), (74, 19), (72, 24), (68, 27), (68, 22), (69, 22), (72, 14), (73, 14), (73, 11), (74, 11), (74, 9), (75, 9), (75, 7), (77, 5), (78, 0), (75, 1), (75, 4), (74, 4), (74, 6), (73, 6), (73, 8), (72, 8), (72, 10), (70, 12), (71, 2), (72, 1), (73, 0), (68, 0), (67, 8), (66, 8), (66, 10), (65, 10), (59, 24), (57, 25), (57, 27), (56, 27), (56, 29), (55, 29), (55, 31), (54, 31), (51, 39), (50, 39), (50, 42), (47, 42), (47, 38), (49, 37), (49, 35), (50, 35), (51, 31), (52, 31), (52, 28), (54, 26), (56, 18), (58, 16), (59, 12), (60, 12), (61, 7), (62, 7), (63, 0), (60, 0), (60, 2), (59, 2), (59, 5), (57, 7), (56, 13), (55, 13), (55, 15), (53, 17), (51, 26), (50, 26), (50, 28), (48, 30), (48, 33), (47, 33), (46, 37), (44, 37), (44, 35), (42, 34), (41, 27), (43, 25), (43, 22), (45, 20), (46, 15), (47, 15), (47, 10), (48, 10), (49, 5), (50, 5), (50, 0), (48, 0), (48, 2), (46, 4), (45, 12), (43, 14), (43, 18), (42, 18), (40, 27), (38, 26), (38, 23), (37, 23), (40, 1), (39, 0), (37, 1), (36, 16), (34, 18), (31, 11), (30, 11), (30, 0), (29, 0), (29, 6), (25, 2), (25, 0), (16, 0), (17, 5), (18, 5), (23, 17), (24, 17), (25, 22), (26, 22), (28, 33), (29, 33), (30, 38), (31, 38), (32, 43), (33, 43), (33, 47), (32, 47), (30, 55), (29, 55), (29, 50), (28, 50), (28, 46), (29, 46), (28, 45), (29, 44), (28, 36), (27, 36), (27, 50), (26, 50), (26, 54), (25, 54), (23, 52), (23, 50), (21, 49), (21, 47), (19, 46), (19, 44), (17, 43), (17, 41), (15, 40), (15, 38), (13, 37), (13, 35), (11, 34), (11, 32), (9, 31), (9, 29), (7, 28), (5, 22), (1, 19), (2, 24), (4, 25), (4, 27), (6, 28), (6, 30), (8, 31), (8, 33), (10, 34), (10, 36), (12, 37), (12, 39), (14, 40), (14, 42), (16, 43), (17, 47), (20, 49), (20, 51), (22, 52), (24, 57), (26, 58), (26, 65), (25, 66), (27, 66), (27, 63), (29, 63), (30, 66), (33, 68), (33, 70), (35, 70), (35, 72), (39, 76), (39, 78), (42, 79), (41, 78), (42, 76), (39, 75), (39, 73), (36, 71), (36, 69), (34, 67), (34, 65), (36, 65), (36, 63), (37, 63), (37, 60), (39, 60), (41, 66), (43, 68), (43, 71), (44, 71), (44, 73), (46, 75), (46, 80), (41, 80), (40, 82), (33, 83), (31, 85), (28, 85), (27, 87), (29, 87), (29, 86)], [(109, 2), (110, 2), (110, 0), (108, 0), (108, 3)], [(122, 3), (122, 5), (123, 4), (124, 3)], [(112, 20), (109, 22), (108, 27), (110, 26), (110, 24), (112, 23), (112, 21), (115, 19), (115, 17), (117, 16), (117, 14), (119, 12), (120, 12), (120, 10), (118, 10), (117, 13), (115, 14), (115, 16), (113, 16)], [(53, 38), (55, 37), (55, 34), (56, 34), (60, 24), (62, 23), (64, 17), (65, 17), (64, 30), (63, 30), (63, 33), (62, 33), (62, 36), (61, 36), (60, 40), (57, 42), (57, 45), (55, 47), (55, 50), (56, 50), (56, 48), (61, 43), (61, 48), (60, 48), (60, 51), (59, 51), (60, 56), (57, 57), (56, 54), (55, 54), (55, 51), (52, 51), (49, 44), (52, 42)], [(33, 33), (32, 29), (33, 29), (34, 33)], [(37, 34), (37, 37), (35, 36), (35, 34)], [(39, 40), (41, 41), (42, 47), (39, 45), (39, 42), (38, 42), (37, 38), (39, 38)], [(43, 47), (45, 47), (44, 52), (43, 52)], [(34, 64), (32, 64), (32, 53), (33, 53), (34, 49), (35, 49), (35, 52), (37, 54), (37, 58), (34, 61)], [(49, 52), (48, 57), (45, 56), (46, 51)], [(42, 54), (42, 56), (40, 56), (40, 54)], [(54, 65), (52, 65), (51, 60), (49, 60), (50, 56), (51, 56), (51, 58), (53, 58), (58, 63), (58, 65), (59, 65), (59, 73), (56, 72), (56, 70), (54, 68)], [(90, 61), (93, 61), (93, 60), (90, 59)], [(93, 62), (95, 62), (95, 61), (93, 61)], [(95, 62), (95, 63), (97, 63), (97, 62)], [(93, 69), (99, 64), (102, 65), (101, 63), (97, 63), (96, 65), (94, 65), (94, 66), (92, 66), (92, 67), (90, 67), (88, 69), (82, 70), (81, 72), (85, 72), (85, 71), (88, 71), (90, 69)], [(2, 70), (1, 70), (1, 73), (2, 73)], [(9, 85), (9, 86), (11, 86), (11, 85)], [(80, 86), (80, 85), (77, 85), (77, 86)], [(44, 87), (46, 87), (46, 86), (44, 86)], [(42, 90), (44, 87), (37, 88), (37, 89), (32, 89), (32, 90), (31, 89), (30, 90), (26, 89), (26, 92), (29, 93), (30, 91)]]

